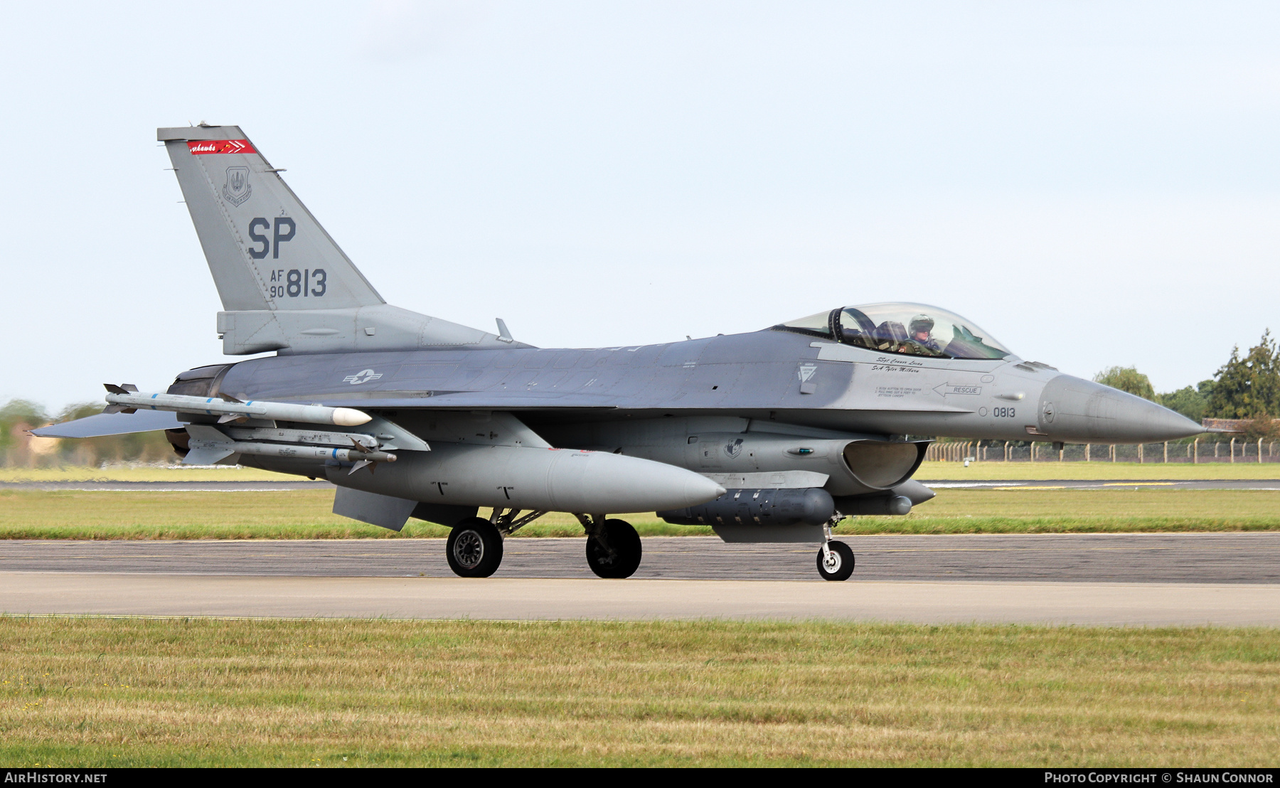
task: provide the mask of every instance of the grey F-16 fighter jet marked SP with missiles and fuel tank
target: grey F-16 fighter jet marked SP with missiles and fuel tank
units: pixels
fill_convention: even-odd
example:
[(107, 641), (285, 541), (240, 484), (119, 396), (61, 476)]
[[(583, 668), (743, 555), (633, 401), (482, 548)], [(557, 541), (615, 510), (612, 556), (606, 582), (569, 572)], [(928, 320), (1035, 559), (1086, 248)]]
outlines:
[[(161, 128), (224, 311), (228, 356), (166, 391), (108, 385), (108, 412), (37, 430), (165, 430), (192, 464), (324, 478), (333, 510), (448, 526), (462, 577), (503, 540), (572, 513), (600, 577), (631, 576), (625, 512), (726, 541), (813, 542), (818, 573), (855, 556), (832, 527), (906, 514), (932, 437), (1164, 441), (1202, 427), (1152, 402), (1023, 361), (973, 321), (868, 303), (746, 334), (550, 349), (390, 306), (238, 127)], [(479, 517), (481, 509), (489, 517)]]

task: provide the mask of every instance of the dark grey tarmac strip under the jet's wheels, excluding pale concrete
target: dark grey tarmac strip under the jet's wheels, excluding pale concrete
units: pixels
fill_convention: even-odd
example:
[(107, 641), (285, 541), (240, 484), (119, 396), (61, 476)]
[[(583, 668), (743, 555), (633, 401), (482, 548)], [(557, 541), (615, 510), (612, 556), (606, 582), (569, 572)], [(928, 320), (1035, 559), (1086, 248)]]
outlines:
[[(1044, 533), (841, 537), (852, 581), (1280, 583), (1280, 533)], [(582, 539), (508, 539), (497, 577), (594, 579)], [(644, 540), (643, 579), (818, 578), (815, 545)], [(0, 541), (5, 572), (452, 578), (442, 539)]]

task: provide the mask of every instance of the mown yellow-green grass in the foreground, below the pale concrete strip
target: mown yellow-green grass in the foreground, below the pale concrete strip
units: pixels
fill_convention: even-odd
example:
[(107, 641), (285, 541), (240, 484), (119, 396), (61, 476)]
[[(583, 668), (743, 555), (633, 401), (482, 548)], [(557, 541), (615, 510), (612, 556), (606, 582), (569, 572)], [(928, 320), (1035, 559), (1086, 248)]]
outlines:
[(0, 619), (41, 766), (1276, 766), (1270, 629)]

